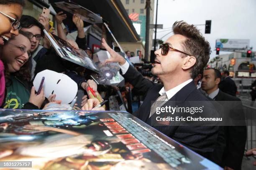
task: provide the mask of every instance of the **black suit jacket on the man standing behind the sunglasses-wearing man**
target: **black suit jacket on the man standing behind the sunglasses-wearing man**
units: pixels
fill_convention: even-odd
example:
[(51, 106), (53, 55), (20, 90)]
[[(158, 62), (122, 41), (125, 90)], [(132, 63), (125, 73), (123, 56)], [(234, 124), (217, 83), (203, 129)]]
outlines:
[[(229, 117), (236, 117), (240, 120), (244, 120), (244, 113), (242, 102), (238, 97), (234, 97), (226, 94), (225, 92), (219, 91), (215, 97), (216, 101), (235, 101), (233, 104), (230, 103)], [(240, 101), (240, 102), (239, 102)], [(220, 102), (220, 104), (222, 104)], [(227, 105), (226, 105), (227, 107)], [(245, 122), (244, 122), (245, 125)], [(222, 157), (221, 165), (228, 166), (234, 170), (241, 170), (241, 164), (243, 159), (243, 153), (246, 144), (246, 126), (224, 126), (225, 133), (225, 149)], [(218, 141), (219, 142), (219, 141)]]

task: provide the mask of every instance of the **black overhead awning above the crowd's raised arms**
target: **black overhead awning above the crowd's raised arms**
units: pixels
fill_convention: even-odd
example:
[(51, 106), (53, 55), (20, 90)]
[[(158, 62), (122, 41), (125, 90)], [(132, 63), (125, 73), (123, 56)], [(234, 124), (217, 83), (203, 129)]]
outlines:
[[(51, 3), (61, 1), (63, 0), (49, 0)], [(104, 20), (108, 21), (108, 26), (118, 42), (137, 42), (140, 40), (120, 0), (72, 1), (91, 10), (95, 14), (100, 14)], [(56, 12), (58, 13), (59, 10), (56, 10)]]

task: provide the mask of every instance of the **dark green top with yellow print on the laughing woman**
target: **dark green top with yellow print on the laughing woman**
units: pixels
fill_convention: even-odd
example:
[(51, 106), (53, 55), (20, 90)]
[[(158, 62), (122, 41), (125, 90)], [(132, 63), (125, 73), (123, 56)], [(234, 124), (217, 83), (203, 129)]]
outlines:
[(30, 92), (16, 77), (10, 76), (12, 85), (6, 87), (7, 95), (5, 98), (5, 109), (22, 109), (24, 104), (28, 102)]

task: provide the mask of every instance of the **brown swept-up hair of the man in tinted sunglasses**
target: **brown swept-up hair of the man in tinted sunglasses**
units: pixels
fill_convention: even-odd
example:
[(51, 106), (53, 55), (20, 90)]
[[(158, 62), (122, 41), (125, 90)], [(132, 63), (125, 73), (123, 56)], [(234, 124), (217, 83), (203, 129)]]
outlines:
[[(205, 40), (202, 33), (194, 26), (189, 25), (184, 21), (176, 21), (172, 25), (174, 34), (180, 34), (187, 37), (187, 40), (182, 42), (184, 52), (196, 57), (197, 61), (192, 67), (191, 77), (195, 78), (202, 70), (210, 58), (211, 47), (210, 43)], [(186, 56), (182, 54), (183, 56)]]

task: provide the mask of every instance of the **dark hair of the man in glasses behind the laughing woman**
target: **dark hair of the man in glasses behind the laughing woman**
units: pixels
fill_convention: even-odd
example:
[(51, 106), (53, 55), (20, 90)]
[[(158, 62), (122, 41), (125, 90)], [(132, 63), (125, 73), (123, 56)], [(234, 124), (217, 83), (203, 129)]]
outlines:
[(41, 30), (41, 36), (44, 37), (44, 26), (36, 20), (36, 18), (33, 18), (29, 15), (22, 15), (20, 18), (20, 25), (22, 28), (31, 28), (33, 26), (37, 26)]

